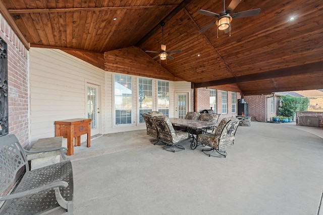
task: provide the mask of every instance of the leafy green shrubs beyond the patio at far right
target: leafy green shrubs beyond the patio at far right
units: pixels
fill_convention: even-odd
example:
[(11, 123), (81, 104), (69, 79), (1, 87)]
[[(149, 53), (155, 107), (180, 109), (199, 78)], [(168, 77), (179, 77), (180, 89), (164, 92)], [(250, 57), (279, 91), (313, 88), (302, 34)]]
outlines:
[(293, 96), (281, 97), (281, 106), (279, 107), (279, 114), (293, 119), (295, 111), (306, 111), (308, 107), (308, 98), (300, 98)]

